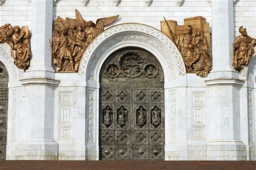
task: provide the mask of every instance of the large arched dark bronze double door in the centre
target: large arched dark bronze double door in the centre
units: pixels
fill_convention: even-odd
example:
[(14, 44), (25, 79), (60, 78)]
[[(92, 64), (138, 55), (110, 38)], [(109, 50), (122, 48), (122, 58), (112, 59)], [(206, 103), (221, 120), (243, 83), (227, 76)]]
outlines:
[(100, 80), (102, 160), (164, 159), (164, 75), (154, 56), (124, 48), (104, 63)]

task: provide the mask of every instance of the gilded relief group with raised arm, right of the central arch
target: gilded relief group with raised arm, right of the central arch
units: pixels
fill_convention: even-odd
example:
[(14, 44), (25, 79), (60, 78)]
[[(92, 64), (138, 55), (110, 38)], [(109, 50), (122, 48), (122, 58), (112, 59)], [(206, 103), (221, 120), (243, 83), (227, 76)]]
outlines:
[[(212, 67), (210, 47), (207, 38), (204, 36), (204, 31), (201, 29), (201, 27), (204, 26), (200, 26), (200, 24), (203, 25), (201, 21), (203, 20), (202, 18), (203, 17), (194, 17), (188, 20), (187, 25), (173, 26), (176, 29), (176, 33), (172, 31), (169, 22), (164, 19), (169, 32), (168, 37), (178, 47), (185, 62), (187, 73), (196, 73), (198, 76), (205, 77)], [(193, 19), (199, 20), (199, 24), (194, 24), (198, 28), (194, 34), (193, 27), (189, 25), (193, 24)]]

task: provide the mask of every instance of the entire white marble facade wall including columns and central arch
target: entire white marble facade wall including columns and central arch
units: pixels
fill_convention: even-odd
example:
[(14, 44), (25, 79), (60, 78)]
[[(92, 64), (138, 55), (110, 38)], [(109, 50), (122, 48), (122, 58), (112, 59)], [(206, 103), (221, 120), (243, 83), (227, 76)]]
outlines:
[[(158, 0), (148, 7), (125, 0), (118, 6), (103, 0), (87, 6), (78, 0), (59, 0), (56, 6), (51, 0), (6, 0), (0, 23), (30, 26), (33, 54), (23, 74), (12, 63), (10, 47), (0, 44), (0, 60), (10, 76), (6, 159), (98, 160), (100, 67), (117, 49), (138, 46), (154, 54), (165, 72), (165, 160), (255, 160), (256, 60), (241, 73), (232, 68), (238, 26), (256, 37), (255, 1), (208, 2), (185, 0), (178, 6)], [(49, 25), (56, 16), (75, 17), (75, 9), (87, 20), (119, 14), (115, 24), (149, 26), (114, 26), (89, 46), (79, 73), (53, 73)], [(213, 69), (205, 78), (186, 74), (177, 48), (150, 27), (160, 29), (163, 16), (183, 25), (184, 18), (198, 15), (212, 28)]]

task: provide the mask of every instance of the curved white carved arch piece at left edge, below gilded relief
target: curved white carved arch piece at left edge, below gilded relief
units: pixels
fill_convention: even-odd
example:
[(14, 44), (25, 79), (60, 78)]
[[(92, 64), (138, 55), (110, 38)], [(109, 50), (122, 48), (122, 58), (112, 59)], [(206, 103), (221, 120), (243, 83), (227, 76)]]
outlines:
[[(8, 62), (9, 66), (11, 67), (11, 70), (9, 70), (10, 68), (8, 68), (6, 65), (5, 67), (8, 70), (9, 73), (9, 81), (17, 81), (23, 78), (24, 73), (22, 69), (18, 69), (15, 65), (14, 65), (14, 61), (11, 57), (11, 47), (6, 44), (6, 43), (2, 43), (0, 44), (0, 60), (4, 60), (6, 62)], [(12, 74), (12, 75), (10, 75)]]

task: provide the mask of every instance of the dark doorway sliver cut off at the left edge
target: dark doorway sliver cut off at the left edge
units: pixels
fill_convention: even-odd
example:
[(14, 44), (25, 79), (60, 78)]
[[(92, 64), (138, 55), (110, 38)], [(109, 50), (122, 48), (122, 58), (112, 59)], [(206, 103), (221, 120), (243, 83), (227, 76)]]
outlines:
[(6, 158), (8, 81), (7, 70), (0, 61), (0, 160)]

